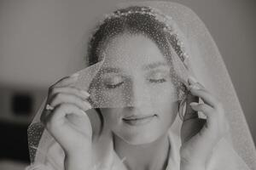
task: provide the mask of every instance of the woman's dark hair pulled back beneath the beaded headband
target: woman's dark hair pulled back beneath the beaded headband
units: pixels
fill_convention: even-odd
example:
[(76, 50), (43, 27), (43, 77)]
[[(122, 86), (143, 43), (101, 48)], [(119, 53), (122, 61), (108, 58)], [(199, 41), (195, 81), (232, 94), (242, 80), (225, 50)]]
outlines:
[[(112, 16), (110, 15), (103, 20), (90, 39), (87, 51), (88, 65), (94, 65), (100, 60), (102, 48), (104, 48), (104, 45), (109, 39), (125, 33), (130, 33), (131, 35), (142, 34), (148, 37), (155, 42), (158, 48), (160, 48), (160, 52), (166, 57), (167, 61), (170, 61), (172, 64), (172, 47), (168, 45), (171, 35), (166, 35), (166, 23), (157, 20), (154, 14), (147, 12), (152, 12), (152, 8), (131, 6), (128, 8), (120, 8), (114, 11)], [(177, 46), (175, 50), (177, 48), (180, 47)], [(175, 75), (172, 75), (172, 78), (177, 79)], [(176, 84), (176, 87), (177, 86)], [(103, 127), (104, 121), (102, 113), (98, 108), (96, 112), (101, 119)]]

